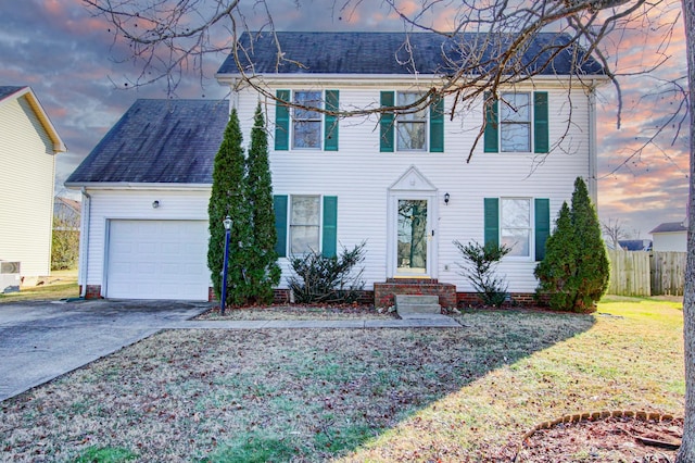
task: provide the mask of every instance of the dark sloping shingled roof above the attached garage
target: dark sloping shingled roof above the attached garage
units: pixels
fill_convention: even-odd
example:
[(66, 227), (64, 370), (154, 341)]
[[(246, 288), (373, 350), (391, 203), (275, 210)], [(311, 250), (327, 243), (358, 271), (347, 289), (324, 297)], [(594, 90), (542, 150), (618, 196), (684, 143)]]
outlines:
[(227, 100), (137, 100), (65, 184), (212, 184), (228, 121)]

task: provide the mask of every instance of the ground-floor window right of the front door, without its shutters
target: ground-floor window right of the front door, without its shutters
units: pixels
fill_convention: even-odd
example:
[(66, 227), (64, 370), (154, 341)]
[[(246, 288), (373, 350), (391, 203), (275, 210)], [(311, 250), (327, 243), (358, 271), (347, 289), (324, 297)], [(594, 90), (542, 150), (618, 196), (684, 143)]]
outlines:
[(531, 255), (531, 200), (503, 198), (500, 242), (511, 248), (508, 255)]

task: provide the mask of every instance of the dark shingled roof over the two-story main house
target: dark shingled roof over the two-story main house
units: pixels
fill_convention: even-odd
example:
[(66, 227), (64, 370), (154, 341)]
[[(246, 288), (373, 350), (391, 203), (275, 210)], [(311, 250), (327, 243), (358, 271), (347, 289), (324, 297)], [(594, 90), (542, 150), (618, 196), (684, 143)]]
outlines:
[[(253, 41), (250, 43), (250, 39)], [(277, 33), (283, 61), (279, 67), (278, 49), (271, 34), (243, 34), (240, 39), (239, 58), (247, 74), (420, 74), (448, 75), (454, 72), (451, 62), (460, 62), (468, 54), (462, 50), (480, 48), (479, 41), (486, 36), (462, 34), (447, 38), (434, 33)], [(407, 40), (410, 53), (404, 47)], [(495, 50), (504, 49), (510, 37), (488, 45), (484, 60), (495, 57)], [(554, 33), (538, 34), (526, 50), (520, 63), (529, 73), (543, 75), (567, 75), (572, 73), (572, 50), (552, 53), (568, 43), (569, 36)], [(555, 47), (555, 48), (554, 48)], [(241, 51), (249, 53), (251, 63)], [(579, 54), (582, 50), (578, 49)], [(539, 59), (539, 53), (540, 59)], [(412, 59), (410, 59), (412, 58)], [(301, 65), (296, 64), (301, 63)], [(549, 63), (549, 65), (548, 65)], [(252, 66), (253, 64), (253, 66)], [(574, 64), (574, 67), (578, 65)], [(484, 68), (477, 70), (479, 74)], [(603, 74), (603, 67), (589, 59), (578, 72)], [(233, 55), (227, 57), (219, 74), (238, 74)]]

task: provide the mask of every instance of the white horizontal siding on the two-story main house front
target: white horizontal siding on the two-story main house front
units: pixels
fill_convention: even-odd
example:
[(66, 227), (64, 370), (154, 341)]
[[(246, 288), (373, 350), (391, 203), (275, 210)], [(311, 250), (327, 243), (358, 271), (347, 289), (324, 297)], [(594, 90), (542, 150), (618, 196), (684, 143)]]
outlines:
[[(280, 84), (277, 88), (289, 87)], [(395, 86), (341, 87), (336, 82), (326, 85), (326, 88), (339, 89), (341, 104), (351, 108), (378, 108), (380, 91), (384, 87)], [(412, 85), (395, 88), (396, 91), (412, 89)], [(276, 195), (288, 191), (293, 195), (339, 197), (338, 251), (340, 253), (342, 247), (351, 249), (362, 241), (367, 242), (363, 277), (366, 289), (371, 289), (375, 281), (384, 281), (387, 278), (389, 187), (409, 167), (416, 166), (438, 188), (439, 214), (433, 218), (439, 243), (438, 278), (455, 284), (458, 291), (471, 290), (468, 281), (458, 274), (456, 263), (463, 263), (463, 259), (452, 241), (483, 241), (484, 198), (548, 198), (551, 221), (554, 222), (563, 201), (571, 199), (576, 177), (590, 177), (589, 98), (579, 88), (571, 98), (559, 86), (542, 90), (549, 93), (549, 139), (555, 142), (568, 130), (563, 143), (567, 151), (544, 155), (542, 162), (516, 153), (484, 155), (482, 143), (479, 143), (471, 162), (466, 163), (482, 121), (481, 103), (473, 111), (457, 114), (453, 121), (446, 118), (445, 150), (430, 153), (427, 159), (422, 159), (419, 151), (383, 155), (379, 151), (379, 130), (375, 130), (379, 123), (378, 115), (348, 118), (341, 124), (340, 151), (330, 157), (317, 155), (312, 151), (295, 152), (288, 157), (285, 152), (270, 151), (273, 190)], [(251, 129), (257, 101), (257, 96), (251, 91), (239, 95), (237, 108), (244, 134)], [(452, 103), (451, 98), (445, 99), (446, 111), (451, 110)], [(275, 121), (274, 105), (268, 102), (267, 108), (268, 120)], [(570, 111), (572, 124), (568, 129)], [(269, 132), (273, 130), (271, 124)], [(571, 155), (568, 154), (570, 152)], [(443, 202), (445, 192), (451, 196), (448, 205)], [(280, 264), (283, 278), (287, 278), (290, 275), (288, 260), (281, 259)], [(533, 259), (507, 259), (501, 263), (498, 273), (506, 276), (510, 291), (532, 292), (536, 287), (534, 267)], [(285, 280), (280, 286), (287, 287)]]

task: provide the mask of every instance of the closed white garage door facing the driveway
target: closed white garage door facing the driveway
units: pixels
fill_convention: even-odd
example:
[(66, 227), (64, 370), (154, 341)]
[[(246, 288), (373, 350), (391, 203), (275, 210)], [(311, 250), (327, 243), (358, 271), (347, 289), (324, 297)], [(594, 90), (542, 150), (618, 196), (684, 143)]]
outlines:
[(108, 298), (207, 300), (206, 221), (110, 221)]

